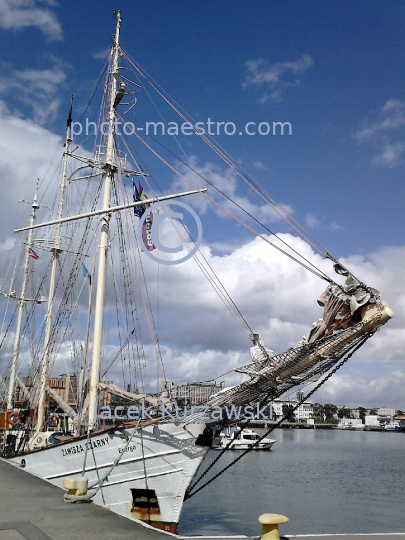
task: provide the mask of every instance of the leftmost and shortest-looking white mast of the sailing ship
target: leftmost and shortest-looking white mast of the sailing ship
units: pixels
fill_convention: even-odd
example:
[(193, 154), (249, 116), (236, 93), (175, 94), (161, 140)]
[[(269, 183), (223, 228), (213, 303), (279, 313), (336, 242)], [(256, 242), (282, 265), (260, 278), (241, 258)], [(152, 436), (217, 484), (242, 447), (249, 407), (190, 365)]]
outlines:
[[(32, 213), (30, 215), (30, 220), (29, 220), (30, 227), (34, 225), (35, 212), (39, 208), (36, 194), (35, 194), (34, 201), (31, 206), (32, 206)], [(18, 355), (20, 353), (20, 347), (21, 347), (21, 327), (22, 327), (22, 320), (24, 316), (25, 290), (27, 288), (28, 273), (30, 270), (29, 252), (32, 245), (33, 235), (34, 235), (34, 231), (30, 229), (27, 236), (27, 251), (25, 254), (23, 282), (21, 285), (20, 299), (18, 301), (17, 326), (15, 330), (13, 352), (12, 352), (12, 357), (11, 357), (10, 381), (9, 381), (8, 395), (7, 395), (7, 410), (8, 411), (12, 411), (13, 405), (14, 405), (13, 395), (14, 395), (14, 387), (15, 387), (15, 381), (16, 381), (17, 361), (18, 361)]]

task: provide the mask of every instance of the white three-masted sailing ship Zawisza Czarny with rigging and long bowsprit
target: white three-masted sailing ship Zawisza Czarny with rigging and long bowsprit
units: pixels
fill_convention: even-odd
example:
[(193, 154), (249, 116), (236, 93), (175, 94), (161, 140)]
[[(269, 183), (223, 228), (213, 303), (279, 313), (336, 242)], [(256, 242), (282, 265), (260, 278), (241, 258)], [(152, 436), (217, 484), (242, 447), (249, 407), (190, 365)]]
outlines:
[[(325, 256), (336, 272), (346, 276), (343, 285), (297, 253), (284, 249), (280, 242), (273, 242), (271, 236), (256, 233), (264, 242), (285, 252), (327, 282), (326, 291), (318, 300), (323, 307), (323, 317), (296, 346), (280, 354), (273, 354), (242, 319), (252, 340), (250, 361), (235, 368), (243, 380), (200, 403), (204, 408), (203, 416), (186, 411), (179, 419), (173, 414), (173, 408), (170, 414), (164, 414), (169, 411), (171, 396), (164, 385), (165, 372), (155, 322), (149, 315), (151, 341), (163, 380), (159, 392), (156, 387), (155, 391), (148, 391), (147, 355), (141, 344), (140, 312), (133, 307), (138, 301), (148, 317), (150, 298), (147, 289), (136, 289), (134, 282), (135, 276), (143, 282), (142, 260), (157, 243), (156, 234), (153, 236), (153, 223), (158, 223), (161, 214), (153, 214), (150, 205), (165, 203), (167, 210), (166, 201), (194, 194), (215, 205), (216, 210), (224, 210), (239, 225), (254, 230), (251, 224), (243, 221), (240, 213), (232, 214), (229, 208), (222, 207), (206, 189), (197, 185), (196, 171), (190, 168), (194, 173), (191, 181), (184, 174), (184, 169), (176, 169), (157, 152), (150, 139), (147, 141), (134, 130), (131, 136), (143, 145), (144, 151), (160, 160), (171, 173), (177, 174), (192, 188), (173, 195), (158, 196), (154, 192), (148, 198), (147, 190), (138, 184), (141, 180), (152, 192), (148, 169), (143, 158), (125, 142), (117, 129), (117, 122), (122, 122), (123, 115), (137, 105), (137, 92), (141, 86), (137, 81), (147, 82), (236, 175), (243, 177), (256, 194), (287, 221), (290, 220), (296, 230), (301, 229), (285, 209), (254, 183), (212, 139), (202, 134), (182, 109), (125, 53), (120, 44), (121, 15), (119, 11), (114, 15), (116, 28), (106, 64), (98, 123), (98, 128), (102, 125), (105, 129), (95, 130), (92, 153), (83, 147), (73, 148), (71, 106), (62, 152), (59, 194), (52, 208), (56, 210), (56, 217), (52, 214), (54, 219), (36, 223), (41, 208), (36, 194), (30, 203), (32, 212), (28, 226), (16, 231), (27, 231), (27, 237), (22, 243), (23, 275), (20, 281), (16, 277), (12, 287), (2, 291), (7, 305), (14, 303), (15, 307), (12, 316), (3, 319), (7, 328), (3, 331), (1, 343), (2, 354), (7, 357), (8, 340), (14, 335), (8, 355), (9, 367), (3, 381), (6, 388), (6, 410), (0, 420), (4, 435), (3, 457), (56, 486), (65, 485), (69, 489), (68, 500), (92, 499), (127, 518), (175, 532), (184, 499), (190, 493), (192, 479), (207, 455), (213, 437), (224, 425), (231, 423), (224, 420), (221, 411), (230, 405), (262, 406), (293, 387), (326, 378), (334, 366), (347, 360), (393, 313), (377, 290), (362, 283), (329, 253)], [(131, 180), (132, 192), (125, 184)], [(76, 191), (72, 186), (77, 188)], [(212, 183), (211, 188), (218, 189)], [(69, 203), (68, 196), (72, 198)], [(79, 211), (75, 213), (72, 209)], [(69, 215), (64, 215), (66, 213)], [(143, 219), (143, 225), (142, 230), (139, 228), (135, 234), (138, 219)], [(192, 255), (197, 253), (189, 231), (181, 229), (174, 219), (171, 223), (182, 238), (185, 249)], [(66, 232), (68, 227), (69, 234)], [(41, 236), (39, 233), (44, 230), (49, 232)], [(201, 261), (197, 255), (197, 261)], [(38, 258), (44, 260), (46, 257), (49, 257), (49, 263), (45, 275), (37, 278), (35, 287), (29, 291), (33, 264), (38, 262)], [(120, 277), (116, 267), (120, 269)], [(83, 300), (83, 277), (89, 282), (87, 310)], [(20, 286), (18, 294), (15, 292), (16, 284)], [(46, 288), (48, 292), (44, 294)], [(119, 313), (118, 322), (114, 324), (109, 319), (113, 292), (117, 293)], [(223, 297), (231, 302), (225, 293)], [(240, 315), (238, 311), (236, 313)], [(78, 325), (74, 326), (74, 322)], [(115, 355), (108, 348), (103, 348), (107, 334), (119, 342)], [(28, 379), (25, 379), (25, 384), (20, 376), (23, 336), (29, 336), (30, 384)], [(66, 347), (64, 344), (68, 341), (72, 345)], [(55, 361), (67, 355), (72, 355), (75, 362), (76, 406), (69, 405), (49, 384)], [(121, 360), (123, 369), (129, 367), (132, 370), (126, 389), (111, 381), (103, 381), (106, 372), (102, 372), (101, 366), (107, 365), (108, 371), (117, 359)], [(20, 407), (16, 407), (17, 389), (23, 396), (21, 401), (24, 403)], [(124, 419), (108, 422), (100, 413), (103, 395), (113, 395), (121, 400), (116, 411), (122, 410), (122, 403), (127, 402), (138, 411), (137, 415), (131, 417), (128, 409)], [(63, 414), (54, 413), (50, 400)], [(64, 419), (63, 429), (57, 427), (61, 419)], [(259, 444), (260, 439), (255, 442)], [(84, 487), (79, 481), (81, 478), (87, 479)]]

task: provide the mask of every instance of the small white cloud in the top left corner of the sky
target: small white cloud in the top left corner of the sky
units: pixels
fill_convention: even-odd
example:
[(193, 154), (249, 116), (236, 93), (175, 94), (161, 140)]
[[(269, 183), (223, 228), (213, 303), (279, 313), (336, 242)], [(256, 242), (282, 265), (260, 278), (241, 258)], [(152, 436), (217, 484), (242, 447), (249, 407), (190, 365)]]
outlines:
[(0, 0), (0, 27), (20, 30), (39, 28), (50, 39), (62, 39), (62, 28), (55, 14), (43, 5), (53, 6), (52, 0)]

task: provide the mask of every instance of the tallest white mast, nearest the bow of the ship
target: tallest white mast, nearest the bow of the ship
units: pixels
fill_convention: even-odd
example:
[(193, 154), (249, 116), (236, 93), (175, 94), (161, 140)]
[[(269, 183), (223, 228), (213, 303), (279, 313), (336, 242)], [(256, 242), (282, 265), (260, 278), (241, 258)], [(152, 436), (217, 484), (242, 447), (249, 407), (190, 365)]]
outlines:
[[(108, 111), (108, 124), (109, 132), (107, 136), (107, 155), (104, 173), (104, 191), (103, 191), (103, 209), (108, 210), (110, 207), (111, 197), (111, 184), (114, 177), (114, 171), (116, 169), (114, 165), (115, 161), (115, 98), (117, 96), (117, 81), (118, 76), (118, 57), (120, 54), (119, 38), (121, 27), (121, 12), (114, 11), (116, 19), (115, 36), (112, 36), (113, 46), (111, 49), (111, 75), (110, 75), (110, 88), (109, 88), (109, 111)], [(101, 343), (103, 333), (103, 311), (104, 311), (104, 298), (105, 298), (105, 284), (106, 284), (106, 270), (107, 270), (107, 252), (108, 252), (108, 239), (109, 239), (109, 226), (110, 215), (104, 214), (101, 219), (101, 233), (99, 242), (99, 262), (98, 262), (98, 276), (96, 287), (96, 305), (94, 316), (94, 337), (93, 337), (93, 354), (91, 364), (91, 377), (90, 377), (90, 396), (89, 396), (89, 428), (93, 428), (97, 420), (97, 392), (98, 383), (100, 378), (100, 357), (101, 357)]]

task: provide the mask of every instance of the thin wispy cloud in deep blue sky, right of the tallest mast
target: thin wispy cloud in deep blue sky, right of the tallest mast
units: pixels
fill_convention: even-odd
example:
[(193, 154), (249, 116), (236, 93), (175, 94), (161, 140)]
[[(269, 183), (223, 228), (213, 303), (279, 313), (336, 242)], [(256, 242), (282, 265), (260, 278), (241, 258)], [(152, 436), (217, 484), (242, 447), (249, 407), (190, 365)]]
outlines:
[(245, 62), (247, 71), (243, 88), (257, 86), (268, 88), (260, 101), (264, 103), (268, 99), (278, 100), (284, 90), (289, 86), (299, 86), (301, 81), (295, 76), (311, 68), (313, 60), (308, 54), (297, 58), (293, 62), (270, 63), (268, 60), (248, 60)]

